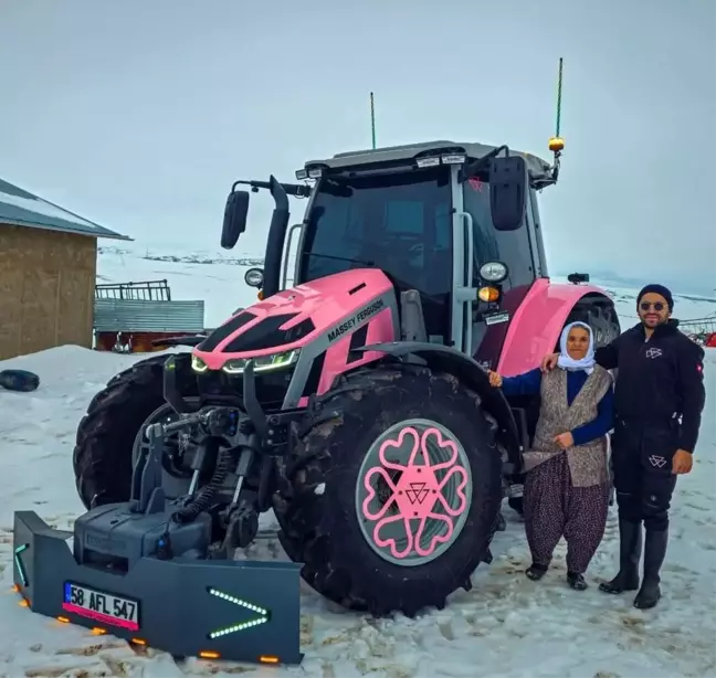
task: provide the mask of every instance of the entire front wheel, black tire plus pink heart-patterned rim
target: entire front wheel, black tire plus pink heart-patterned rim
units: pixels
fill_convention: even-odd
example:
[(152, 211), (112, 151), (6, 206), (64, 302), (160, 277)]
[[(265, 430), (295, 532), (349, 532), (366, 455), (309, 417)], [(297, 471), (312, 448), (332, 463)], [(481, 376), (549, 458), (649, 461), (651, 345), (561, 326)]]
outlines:
[(491, 559), (502, 501), (495, 424), (478, 395), (451, 374), (386, 364), (341, 377), (306, 416), (274, 502), (304, 580), (375, 616), (442, 608), (468, 590)]

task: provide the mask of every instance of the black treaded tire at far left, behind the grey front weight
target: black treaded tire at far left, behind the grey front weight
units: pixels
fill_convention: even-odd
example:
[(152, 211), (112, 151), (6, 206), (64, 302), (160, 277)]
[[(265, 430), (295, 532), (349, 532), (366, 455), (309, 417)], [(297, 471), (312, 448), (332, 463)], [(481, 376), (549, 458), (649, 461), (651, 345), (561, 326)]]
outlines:
[(107, 382), (80, 422), (72, 464), (85, 508), (127, 501), (131, 488), (135, 438), (141, 425), (165, 404), (166, 354), (136, 362)]

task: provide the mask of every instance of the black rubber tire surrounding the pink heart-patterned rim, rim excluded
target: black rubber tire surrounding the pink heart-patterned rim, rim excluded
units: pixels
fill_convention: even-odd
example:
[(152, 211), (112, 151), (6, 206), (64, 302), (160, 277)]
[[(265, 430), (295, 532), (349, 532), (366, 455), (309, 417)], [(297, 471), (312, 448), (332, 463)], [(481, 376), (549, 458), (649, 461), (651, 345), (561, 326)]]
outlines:
[[(414, 616), (442, 608), (456, 589), (470, 589), (499, 520), (502, 459), (495, 426), (480, 398), (450, 374), (428, 368), (386, 366), (341, 377), (316, 399), (280, 464), (274, 511), (280, 540), (292, 560), (304, 563), (303, 579), (333, 602), (383, 616)], [(472, 505), (451, 548), (435, 560), (399, 566), (365, 541), (355, 510), (355, 486), (370, 444), (392, 424), (427, 417), (443, 424), (471, 458)], [(325, 484), (325, 490), (316, 488)]]

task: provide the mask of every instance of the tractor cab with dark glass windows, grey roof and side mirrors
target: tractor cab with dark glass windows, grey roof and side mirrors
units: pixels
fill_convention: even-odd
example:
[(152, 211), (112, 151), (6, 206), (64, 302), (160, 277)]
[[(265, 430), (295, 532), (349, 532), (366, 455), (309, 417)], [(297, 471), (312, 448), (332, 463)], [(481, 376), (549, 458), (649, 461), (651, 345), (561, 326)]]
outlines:
[[(264, 297), (351, 268), (379, 268), (397, 294), (415, 290), (424, 339), (475, 356), (504, 303), (546, 275), (535, 192), (556, 169), (505, 146), (434, 141), (345, 152), (296, 172), (305, 184), (267, 188), (276, 203), (265, 265), (245, 280)], [(249, 192), (234, 184), (222, 245), (245, 229)], [(288, 224), (288, 195), (307, 198)]]

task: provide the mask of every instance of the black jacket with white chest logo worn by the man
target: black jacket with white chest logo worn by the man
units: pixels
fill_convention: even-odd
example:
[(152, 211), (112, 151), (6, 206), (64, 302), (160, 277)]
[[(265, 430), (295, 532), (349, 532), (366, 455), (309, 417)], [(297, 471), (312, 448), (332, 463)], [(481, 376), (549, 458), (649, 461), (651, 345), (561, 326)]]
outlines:
[(704, 390), (704, 349), (677, 329), (659, 326), (649, 341), (639, 324), (597, 349), (597, 363), (619, 369), (614, 386), (618, 419), (647, 426), (668, 426), (682, 417), (678, 447), (693, 452), (698, 438)]

